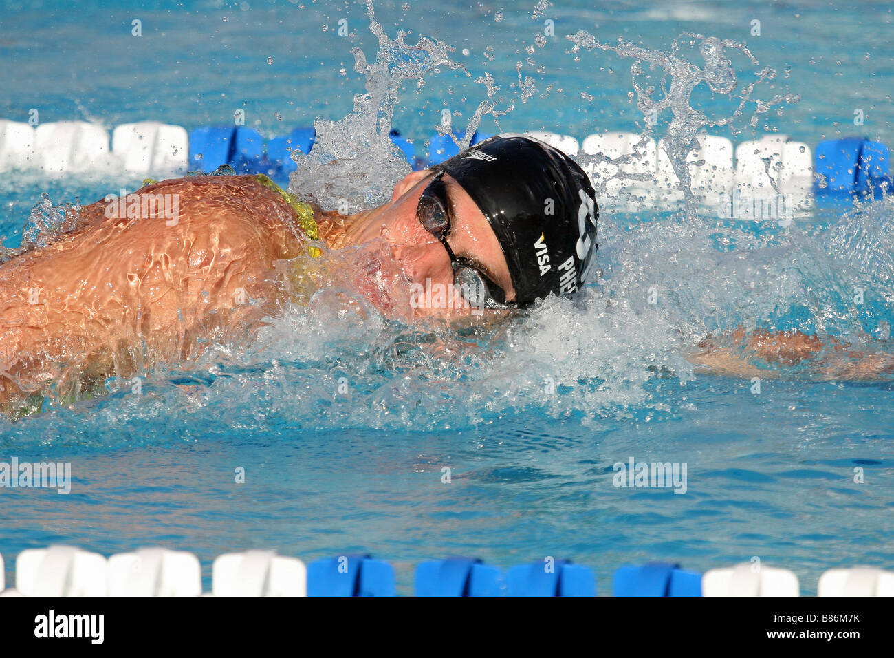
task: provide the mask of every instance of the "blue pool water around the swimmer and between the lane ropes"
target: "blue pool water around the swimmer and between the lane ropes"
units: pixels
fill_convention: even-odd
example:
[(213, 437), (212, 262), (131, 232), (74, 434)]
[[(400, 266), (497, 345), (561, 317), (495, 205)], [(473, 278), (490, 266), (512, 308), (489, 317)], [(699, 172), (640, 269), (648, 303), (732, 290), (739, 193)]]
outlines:
[[(475, 82), (485, 72), (502, 88), (499, 107), (514, 105), (499, 118), (503, 131), (578, 139), (637, 131), (631, 60), (569, 53), (564, 35), (582, 29), (653, 49), (683, 32), (737, 39), (778, 72), (764, 96), (800, 96), (754, 127), (715, 134), (744, 141), (779, 131), (814, 145), (861, 133), (894, 144), (888, 3), (564, 2), (546, 9), (557, 37), (533, 55), (525, 47), (543, 29), (533, 2), (447, 14), (403, 4), (376, 4), (386, 32), (443, 40), (471, 73), (443, 69), (421, 89), (404, 86), (394, 125), (419, 141), (443, 107), (465, 123), (486, 98)], [(364, 90), (350, 50), (375, 53), (360, 5), (108, 5), (74, 13), (62, 3), (2, 4), (0, 117), (27, 121), (37, 108), (42, 122), (111, 128), (151, 119), (190, 129), (229, 123), (242, 108), (247, 124), (282, 134), (347, 115)], [(142, 38), (131, 37), (134, 18)], [(340, 19), (348, 37), (334, 34)], [(749, 35), (754, 19), (760, 37)], [(512, 84), (528, 56), (536, 61), (521, 77), (532, 76), (536, 92), (522, 103)], [(856, 108), (865, 114), (859, 128)], [(491, 117), (481, 127), (496, 132)], [(0, 235), (6, 246), (21, 242), (41, 192), (54, 203), (89, 202), (137, 185), (116, 173), (4, 174)], [(155, 373), (139, 395), (122, 389), (0, 421), (0, 461), (68, 461), (73, 475), (69, 495), (0, 490), (8, 576), (16, 553), (49, 543), (106, 555), (148, 545), (193, 551), (206, 577), (226, 551), (275, 548), (303, 560), (367, 551), (392, 562), (401, 594), (419, 561), (449, 554), (501, 567), (569, 558), (595, 568), (602, 594), (615, 568), (648, 560), (704, 571), (759, 556), (793, 569), (806, 593), (826, 568), (891, 568), (894, 383), (768, 372), (755, 394), (749, 380), (696, 376), (681, 353), (738, 324), (885, 338), (894, 321), (892, 209), (878, 200), (816, 210), (785, 230), (674, 211), (603, 212), (600, 284), (580, 303), (552, 300), (502, 331), (443, 334), (446, 349), (436, 350), (375, 315), (340, 317), (324, 297), (245, 349)], [(651, 286), (661, 303), (646, 303)], [(854, 286), (866, 291), (856, 309)], [(686, 463), (686, 494), (613, 486), (612, 465), (629, 457)]]

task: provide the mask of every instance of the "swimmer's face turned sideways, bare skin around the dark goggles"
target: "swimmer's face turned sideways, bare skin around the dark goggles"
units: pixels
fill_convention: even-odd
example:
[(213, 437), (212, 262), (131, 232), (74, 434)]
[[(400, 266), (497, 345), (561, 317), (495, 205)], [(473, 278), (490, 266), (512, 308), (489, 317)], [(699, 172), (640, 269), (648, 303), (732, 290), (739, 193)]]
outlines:
[[(453, 285), (454, 269), (447, 250), (419, 221), (419, 198), (433, 179), (431, 170), (406, 175), (394, 186), (392, 202), (377, 210), (356, 240), (384, 240), (390, 246), (394, 263), (412, 291), (407, 312), (410, 317), (454, 318), (489, 313), (484, 304), (470, 303), (461, 289)], [(447, 195), (450, 231), (446, 241), (451, 251), (502, 288), (506, 301), (511, 302), (515, 291), (493, 229), (468, 192), (450, 175), (444, 174), (441, 180)]]

